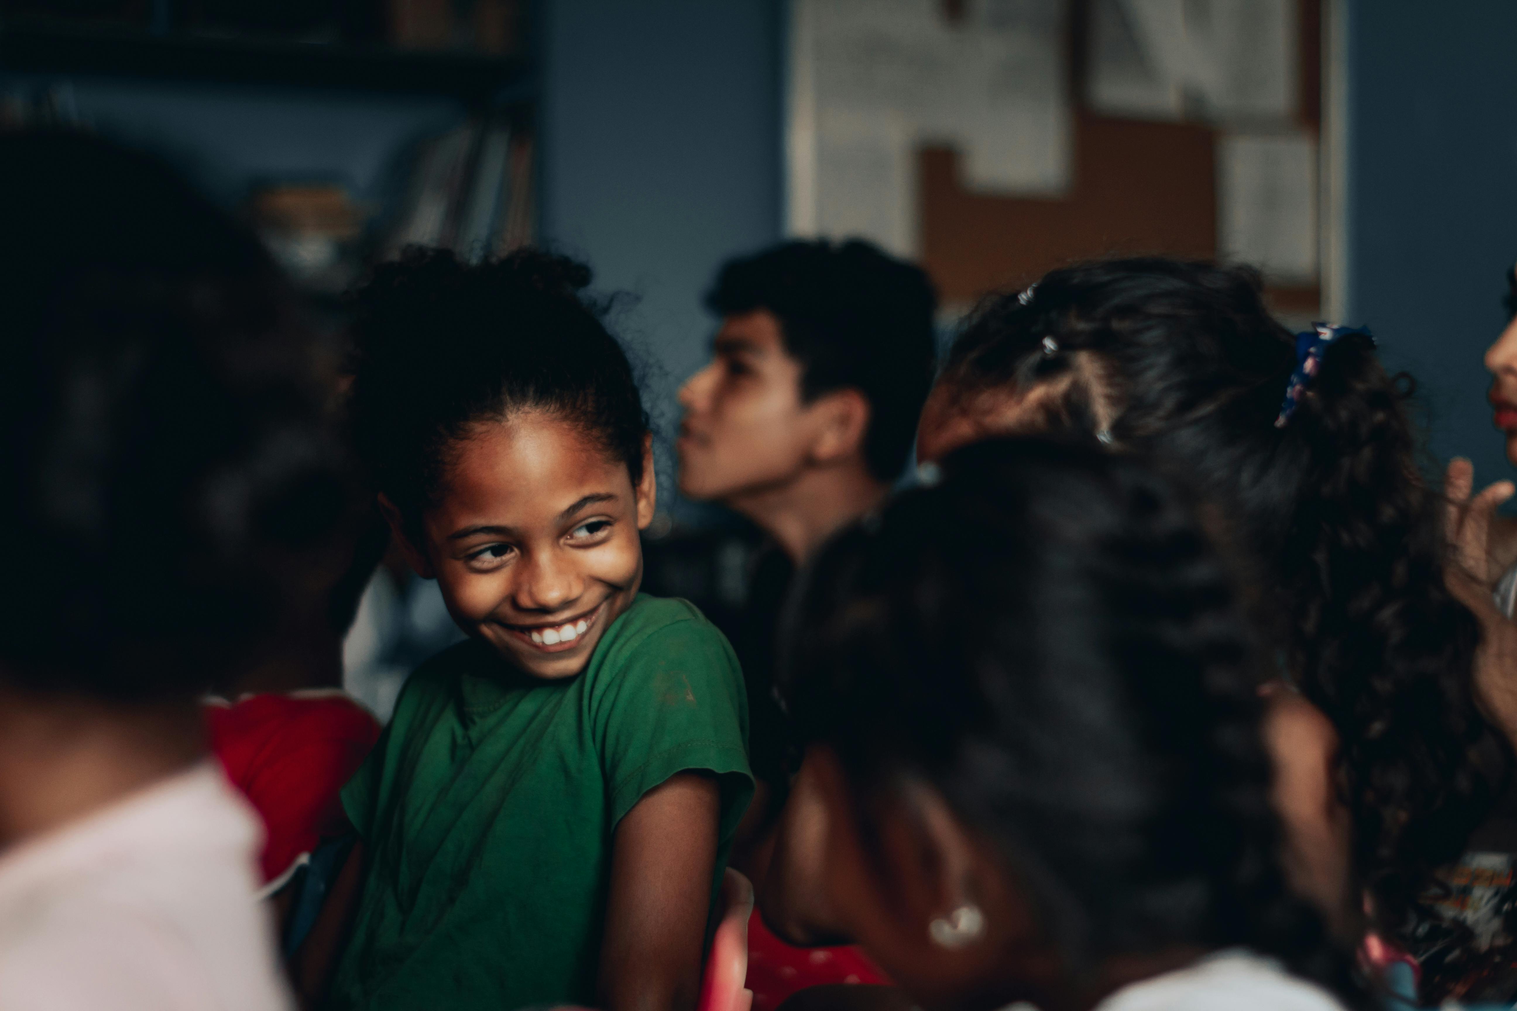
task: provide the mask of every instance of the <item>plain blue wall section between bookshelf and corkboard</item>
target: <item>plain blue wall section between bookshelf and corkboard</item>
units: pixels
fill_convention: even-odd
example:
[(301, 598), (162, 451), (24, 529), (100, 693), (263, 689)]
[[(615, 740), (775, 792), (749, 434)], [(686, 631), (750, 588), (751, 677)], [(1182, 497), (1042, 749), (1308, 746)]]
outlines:
[[(542, 232), (628, 291), (666, 429), (707, 355), (701, 294), (781, 229), (781, 0), (542, 0)], [(651, 353), (648, 353), (651, 352)], [(658, 477), (671, 491), (667, 452)], [(669, 502), (667, 494), (660, 496)]]

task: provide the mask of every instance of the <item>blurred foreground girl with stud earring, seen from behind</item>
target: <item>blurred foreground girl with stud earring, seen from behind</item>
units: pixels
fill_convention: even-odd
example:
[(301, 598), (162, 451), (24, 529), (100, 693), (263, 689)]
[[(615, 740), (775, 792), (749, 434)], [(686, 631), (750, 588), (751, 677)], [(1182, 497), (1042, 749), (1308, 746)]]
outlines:
[(1285, 884), (1258, 650), (1194, 511), (1094, 447), (942, 470), (790, 612), (837, 926), (930, 1011), (1370, 1006)]

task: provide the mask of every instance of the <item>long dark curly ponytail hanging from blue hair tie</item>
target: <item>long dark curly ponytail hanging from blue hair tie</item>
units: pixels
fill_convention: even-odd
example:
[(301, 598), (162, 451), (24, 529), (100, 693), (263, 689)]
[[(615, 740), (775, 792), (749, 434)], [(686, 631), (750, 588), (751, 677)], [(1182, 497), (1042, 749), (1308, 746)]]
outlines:
[(1285, 432), (1303, 494), (1279, 543), (1279, 611), (1303, 693), (1338, 728), (1356, 865), (1397, 928), (1494, 796), (1471, 761), (1490, 737), (1468, 681), (1479, 628), (1444, 587), (1437, 500), (1409, 470), (1409, 388), (1347, 336), (1312, 391)]

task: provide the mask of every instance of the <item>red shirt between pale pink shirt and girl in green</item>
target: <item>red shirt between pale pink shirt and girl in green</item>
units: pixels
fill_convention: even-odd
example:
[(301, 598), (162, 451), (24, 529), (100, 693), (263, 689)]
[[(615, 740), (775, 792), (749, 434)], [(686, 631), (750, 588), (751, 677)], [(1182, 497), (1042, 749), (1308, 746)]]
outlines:
[(337, 793), (379, 738), (379, 721), (338, 690), (244, 696), (205, 706), (211, 750), (262, 817), (264, 882), (322, 837), (347, 831)]

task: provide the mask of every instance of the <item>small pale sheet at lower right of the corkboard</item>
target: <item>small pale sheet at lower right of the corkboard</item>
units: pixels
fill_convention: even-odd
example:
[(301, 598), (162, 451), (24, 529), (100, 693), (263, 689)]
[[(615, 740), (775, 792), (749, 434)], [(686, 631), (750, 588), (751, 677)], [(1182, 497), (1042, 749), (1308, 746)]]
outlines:
[(1218, 246), (1277, 283), (1317, 280), (1317, 142), (1230, 135), (1217, 146)]

